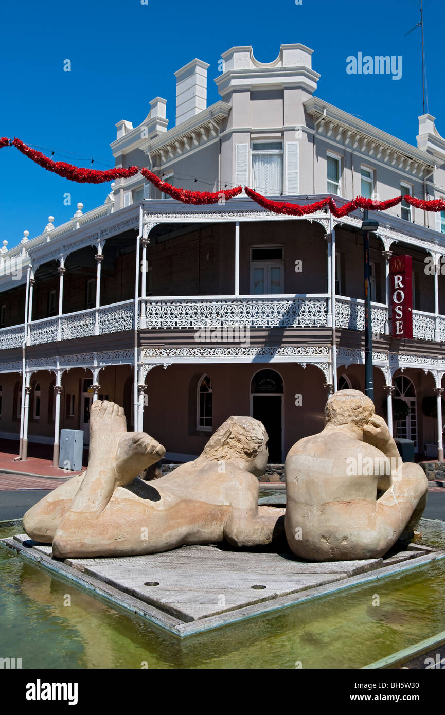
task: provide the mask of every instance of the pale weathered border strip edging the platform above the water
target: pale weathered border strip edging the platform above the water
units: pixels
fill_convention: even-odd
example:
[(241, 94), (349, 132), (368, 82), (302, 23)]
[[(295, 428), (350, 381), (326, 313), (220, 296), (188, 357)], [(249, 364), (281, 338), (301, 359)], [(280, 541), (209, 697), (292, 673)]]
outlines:
[[(354, 588), (383, 578), (397, 576), (406, 571), (412, 571), (414, 568), (421, 568), (430, 563), (434, 563), (434, 561), (445, 558), (445, 551), (440, 551), (439, 549), (431, 550), (429, 547), (424, 547), (431, 553), (412, 558), (409, 561), (402, 561), (401, 563), (392, 564), (391, 566), (383, 566), (372, 571), (359, 573), (356, 576), (348, 576), (347, 578), (342, 578), (330, 584), (326, 583), (316, 588), (308, 588), (299, 593), (275, 596), (268, 601), (261, 601), (260, 603), (253, 603), (250, 606), (234, 608), (233, 610), (225, 611), (214, 616), (197, 618), (194, 621), (183, 621), (163, 611), (161, 608), (152, 606), (140, 598), (136, 598), (129, 593), (119, 590), (119, 588), (110, 585), (106, 581), (101, 581), (99, 578), (79, 571), (77, 568), (67, 566), (67, 564), (62, 561), (54, 561), (52, 557), (36, 551), (32, 546), (24, 546), (19, 541), (14, 540), (14, 538), (0, 539), (0, 543), (3, 543), (9, 551), (16, 551), (19, 553), (19, 556), (26, 559), (26, 561), (31, 561), (36, 566), (41, 566), (44, 570), (52, 573), (52, 575), (71, 581), (91, 593), (92, 596), (98, 596), (112, 606), (117, 606), (123, 608), (125, 611), (136, 614), (146, 621), (150, 621), (154, 626), (160, 627), (162, 630), (168, 631), (180, 638), (204, 633), (215, 628), (239, 623), (257, 616), (265, 616), (269, 613), (275, 612), (278, 614), (283, 608), (290, 608), (315, 598), (322, 598), (323, 596), (330, 596), (333, 593), (345, 591), (348, 588)], [(421, 551), (420, 545), (419, 551)]]

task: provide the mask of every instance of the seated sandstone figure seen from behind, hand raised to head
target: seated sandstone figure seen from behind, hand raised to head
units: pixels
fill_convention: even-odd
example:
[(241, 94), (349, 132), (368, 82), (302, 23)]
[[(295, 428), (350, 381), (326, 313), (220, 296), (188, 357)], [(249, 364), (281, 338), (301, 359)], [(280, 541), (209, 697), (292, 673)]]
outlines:
[(340, 390), (325, 428), (299, 440), (285, 463), (285, 532), (310, 561), (383, 556), (409, 541), (426, 505), (424, 470), (402, 463), (388, 427), (358, 390)]

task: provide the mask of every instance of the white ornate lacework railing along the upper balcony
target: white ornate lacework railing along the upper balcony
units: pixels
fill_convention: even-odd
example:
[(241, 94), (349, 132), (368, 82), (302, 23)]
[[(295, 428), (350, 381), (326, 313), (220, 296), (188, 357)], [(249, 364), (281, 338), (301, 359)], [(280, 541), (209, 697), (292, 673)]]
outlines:
[[(195, 296), (139, 299), (137, 325), (143, 330), (200, 330), (202, 327), (288, 328), (330, 327), (328, 295), (258, 295), (252, 296)], [(145, 320), (141, 325), (141, 303), (145, 302)], [(371, 304), (371, 323), (374, 335), (385, 335), (388, 330), (386, 305)], [(363, 330), (363, 300), (336, 297), (336, 327)], [(27, 326), (27, 345), (46, 345), (60, 340), (79, 340), (94, 335), (132, 330), (135, 327), (135, 302), (127, 300), (99, 309), (82, 310), (35, 320)], [(413, 311), (413, 337), (419, 340), (445, 342), (445, 315)], [(14, 325), (0, 329), (0, 350), (21, 347), (25, 326)]]

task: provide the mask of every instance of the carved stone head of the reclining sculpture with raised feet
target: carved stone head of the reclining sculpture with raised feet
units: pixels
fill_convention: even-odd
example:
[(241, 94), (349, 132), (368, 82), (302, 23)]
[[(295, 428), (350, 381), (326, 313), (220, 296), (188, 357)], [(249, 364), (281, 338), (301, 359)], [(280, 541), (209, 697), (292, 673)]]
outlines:
[(217, 428), (202, 450), (211, 461), (243, 461), (244, 468), (259, 476), (268, 463), (268, 434), (263, 423), (253, 417), (229, 417)]

